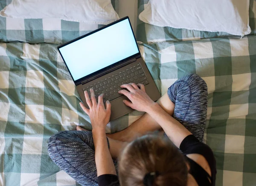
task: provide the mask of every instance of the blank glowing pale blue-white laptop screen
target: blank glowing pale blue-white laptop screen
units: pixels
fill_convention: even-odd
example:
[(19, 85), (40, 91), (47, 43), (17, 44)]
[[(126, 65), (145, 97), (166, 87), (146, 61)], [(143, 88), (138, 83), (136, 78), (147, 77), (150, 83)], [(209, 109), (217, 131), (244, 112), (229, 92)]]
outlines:
[(128, 19), (59, 48), (74, 80), (139, 52)]

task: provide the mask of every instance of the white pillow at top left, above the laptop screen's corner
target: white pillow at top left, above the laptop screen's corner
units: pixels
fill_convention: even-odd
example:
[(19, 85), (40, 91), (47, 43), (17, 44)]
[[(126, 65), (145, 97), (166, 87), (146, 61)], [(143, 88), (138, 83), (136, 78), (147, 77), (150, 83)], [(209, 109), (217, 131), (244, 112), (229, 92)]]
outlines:
[(119, 19), (111, 0), (12, 0), (0, 15), (10, 18), (59, 18), (106, 25)]

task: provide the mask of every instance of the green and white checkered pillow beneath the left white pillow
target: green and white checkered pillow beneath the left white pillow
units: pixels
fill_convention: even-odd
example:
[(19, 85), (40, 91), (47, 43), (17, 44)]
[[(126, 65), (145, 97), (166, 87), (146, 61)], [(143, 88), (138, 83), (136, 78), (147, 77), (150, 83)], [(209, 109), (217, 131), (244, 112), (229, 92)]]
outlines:
[[(0, 0), (2, 10), (12, 0)], [(111, 0), (118, 13), (119, 0)], [(27, 43), (54, 43), (61, 44), (102, 25), (65, 21), (61, 19), (15, 19), (0, 17), (0, 42), (22, 41)]]

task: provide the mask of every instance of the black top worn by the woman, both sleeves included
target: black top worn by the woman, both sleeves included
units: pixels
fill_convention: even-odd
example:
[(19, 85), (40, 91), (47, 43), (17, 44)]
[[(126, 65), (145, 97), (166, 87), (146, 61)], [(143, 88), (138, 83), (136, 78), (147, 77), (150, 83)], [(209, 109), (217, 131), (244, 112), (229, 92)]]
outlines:
[[(180, 150), (184, 155), (199, 154), (207, 160), (212, 176), (210, 176), (198, 163), (186, 157), (190, 163), (189, 173), (195, 178), (199, 186), (215, 186), (216, 179), (216, 161), (212, 149), (199, 140), (194, 135), (189, 135), (180, 143)], [(208, 179), (209, 178), (209, 179)], [(209, 182), (211, 180), (211, 183)], [(101, 175), (98, 177), (99, 186), (119, 186), (119, 180), (116, 175)]]

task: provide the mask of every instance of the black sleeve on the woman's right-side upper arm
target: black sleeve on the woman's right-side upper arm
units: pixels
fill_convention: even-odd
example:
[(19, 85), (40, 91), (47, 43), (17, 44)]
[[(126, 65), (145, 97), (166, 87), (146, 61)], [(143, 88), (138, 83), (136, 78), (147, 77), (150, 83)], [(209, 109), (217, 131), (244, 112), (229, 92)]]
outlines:
[(183, 154), (199, 154), (204, 156), (204, 158), (209, 163), (212, 178), (215, 181), (216, 177), (216, 160), (213, 155), (212, 149), (204, 144), (201, 143), (194, 135), (189, 135), (185, 137), (185, 139), (180, 143), (180, 150)]

